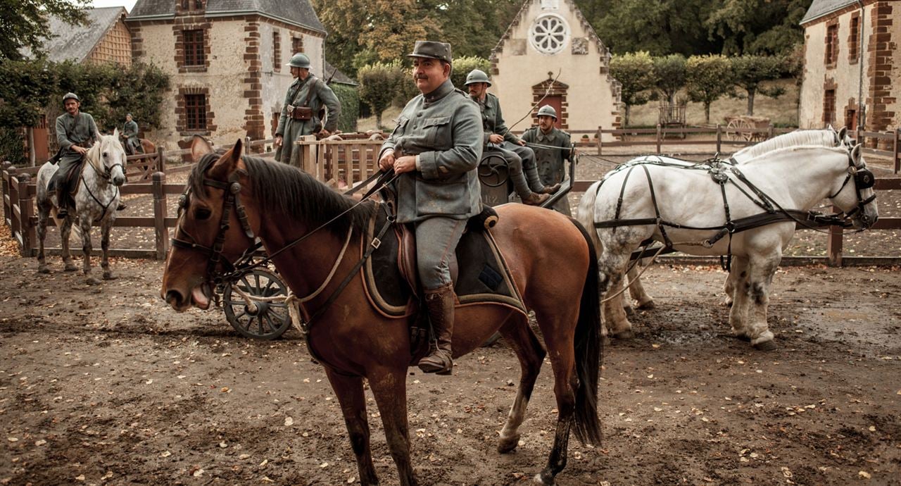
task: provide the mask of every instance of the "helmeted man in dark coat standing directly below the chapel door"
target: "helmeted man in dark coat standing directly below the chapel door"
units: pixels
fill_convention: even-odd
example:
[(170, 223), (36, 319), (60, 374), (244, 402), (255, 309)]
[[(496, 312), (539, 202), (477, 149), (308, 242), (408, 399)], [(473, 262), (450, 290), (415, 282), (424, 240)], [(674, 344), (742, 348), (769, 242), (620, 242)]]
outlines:
[[(560, 183), (567, 177), (566, 166), (563, 160), (572, 160), (572, 143), (569, 142), (569, 133), (558, 130), (554, 124), (557, 123), (557, 111), (551, 105), (543, 105), (538, 109), (538, 126), (533, 126), (523, 133), (523, 140), (529, 144), (536, 143), (541, 147), (533, 146), (535, 158), (538, 160), (538, 176), (542, 179), (542, 184), (554, 188), (554, 192), (560, 188)], [(560, 147), (554, 149), (551, 147)], [(554, 209), (564, 215), (571, 216), (569, 210), (569, 200), (566, 197), (560, 198), (554, 204)]]

